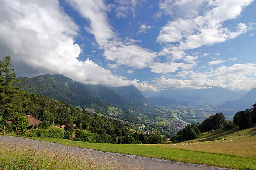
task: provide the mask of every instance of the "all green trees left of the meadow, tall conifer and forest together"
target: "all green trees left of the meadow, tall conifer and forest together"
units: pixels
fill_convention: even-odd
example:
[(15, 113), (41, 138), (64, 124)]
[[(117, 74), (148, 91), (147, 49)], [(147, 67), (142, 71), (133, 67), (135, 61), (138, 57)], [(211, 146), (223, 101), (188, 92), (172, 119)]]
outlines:
[(118, 120), (81, 111), (62, 100), (22, 91), (22, 87), (17, 87), (21, 80), (16, 79), (10, 56), (4, 57), (0, 62), (0, 74), (0, 128), (7, 126), (9, 132), (25, 135), (28, 126), (26, 115), (31, 115), (42, 121), (39, 126), (45, 130), (33, 129), (27, 136), (57, 137), (60, 131), (46, 130), (49, 125), (56, 123), (66, 125), (64, 138), (70, 138), (76, 124), (78, 129), (89, 131), (85, 135), (87, 137), (83, 137), (83, 131), (76, 130), (76, 140), (80, 138), (82, 141), (99, 143), (162, 142), (160, 135), (133, 133), (131, 129), (135, 129), (134, 127)]

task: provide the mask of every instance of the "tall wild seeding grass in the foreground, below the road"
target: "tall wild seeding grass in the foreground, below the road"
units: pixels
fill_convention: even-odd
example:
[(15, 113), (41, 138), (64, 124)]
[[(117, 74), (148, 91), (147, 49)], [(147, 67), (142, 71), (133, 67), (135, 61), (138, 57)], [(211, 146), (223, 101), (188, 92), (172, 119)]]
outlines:
[(1, 170), (136, 170), (107, 158), (91, 158), (88, 154), (75, 155), (34, 150), (25, 145), (0, 142)]

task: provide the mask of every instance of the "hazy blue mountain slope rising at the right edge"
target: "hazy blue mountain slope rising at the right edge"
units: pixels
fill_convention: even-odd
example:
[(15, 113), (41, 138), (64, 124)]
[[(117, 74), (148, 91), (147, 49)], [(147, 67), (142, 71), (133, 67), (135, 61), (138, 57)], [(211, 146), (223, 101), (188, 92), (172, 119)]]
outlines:
[(238, 100), (226, 101), (225, 103), (217, 106), (219, 109), (232, 109), (235, 112), (251, 108), (256, 102), (256, 88), (252, 89)]

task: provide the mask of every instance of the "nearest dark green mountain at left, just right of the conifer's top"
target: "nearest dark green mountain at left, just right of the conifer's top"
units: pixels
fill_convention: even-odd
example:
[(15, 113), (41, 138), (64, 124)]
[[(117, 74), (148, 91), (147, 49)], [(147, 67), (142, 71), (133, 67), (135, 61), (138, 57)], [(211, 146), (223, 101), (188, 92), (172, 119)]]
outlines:
[(39, 75), (33, 78), (20, 77), (22, 89), (37, 95), (44, 95), (55, 100), (65, 101), (73, 106), (84, 106), (91, 100), (100, 100), (85, 89), (81, 83), (75, 82), (63, 75)]

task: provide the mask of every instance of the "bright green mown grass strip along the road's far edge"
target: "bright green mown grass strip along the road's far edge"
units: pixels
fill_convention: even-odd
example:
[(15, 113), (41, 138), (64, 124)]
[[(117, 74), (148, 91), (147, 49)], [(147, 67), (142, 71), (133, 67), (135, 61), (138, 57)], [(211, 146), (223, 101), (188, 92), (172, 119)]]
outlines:
[[(129, 155), (140, 155), (178, 162), (196, 163), (210, 166), (219, 166), (234, 169), (256, 169), (256, 160), (241, 158), (230, 155), (215, 153), (204, 153), (187, 151), (177, 148), (169, 148), (158, 145), (134, 145), (134, 144), (108, 144), (108, 143), (87, 143), (69, 141), (65, 139), (38, 138), (38, 140), (62, 143), (64, 145), (96, 149), (107, 152), (124, 153)], [(192, 145), (191, 145), (192, 146)]]

